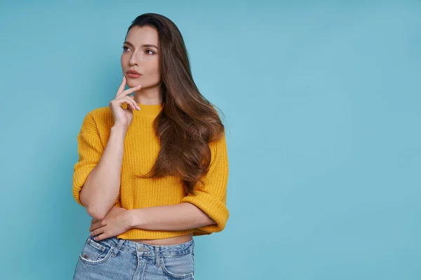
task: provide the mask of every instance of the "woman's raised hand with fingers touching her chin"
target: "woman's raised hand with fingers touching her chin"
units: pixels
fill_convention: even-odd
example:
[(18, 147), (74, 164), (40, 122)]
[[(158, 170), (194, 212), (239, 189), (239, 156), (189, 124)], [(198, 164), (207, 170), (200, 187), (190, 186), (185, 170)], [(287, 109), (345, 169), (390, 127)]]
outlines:
[[(131, 87), (128, 90), (124, 90), (125, 86), (126, 76), (123, 77), (119, 90), (117, 90), (116, 98), (109, 102), (109, 107), (111, 108), (112, 116), (114, 118), (114, 125), (121, 125), (127, 129), (133, 120), (132, 110), (140, 110), (133, 95), (129, 97), (128, 94), (140, 90), (140, 87), (142, 86), (138, 85), (137, 87)], [(127, 109), (121, 107), (124, 103), (127, 103)]]

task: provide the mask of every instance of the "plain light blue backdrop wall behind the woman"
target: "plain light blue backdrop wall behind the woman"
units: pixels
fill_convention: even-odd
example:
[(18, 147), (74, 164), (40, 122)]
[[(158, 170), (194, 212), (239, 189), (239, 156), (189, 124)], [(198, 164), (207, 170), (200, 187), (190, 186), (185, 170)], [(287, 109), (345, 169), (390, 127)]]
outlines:
[(230, 218), (196, 279), (421, 279), (421, 1), (1, 1), (2, 279), (71, 279), (83, 117), (137, 15), (225, 113)]

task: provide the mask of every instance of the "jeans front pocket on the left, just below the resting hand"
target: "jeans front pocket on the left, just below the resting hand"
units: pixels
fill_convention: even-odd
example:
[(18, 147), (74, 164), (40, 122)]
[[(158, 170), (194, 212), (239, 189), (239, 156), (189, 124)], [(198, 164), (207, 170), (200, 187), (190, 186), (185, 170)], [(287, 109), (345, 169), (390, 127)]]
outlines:
[(105, 242), (95, 241), (91, 237), (88, 237), (79, 254), (79, 258), (81, 262), (88, 265), (97, 265), (105, 262), (111, 255), (113, 249), (113, 246)]

